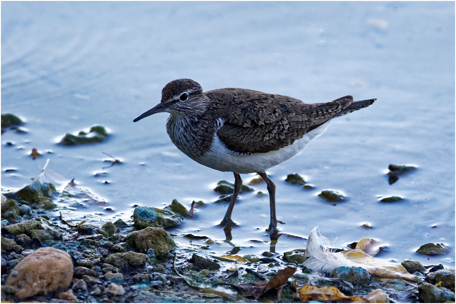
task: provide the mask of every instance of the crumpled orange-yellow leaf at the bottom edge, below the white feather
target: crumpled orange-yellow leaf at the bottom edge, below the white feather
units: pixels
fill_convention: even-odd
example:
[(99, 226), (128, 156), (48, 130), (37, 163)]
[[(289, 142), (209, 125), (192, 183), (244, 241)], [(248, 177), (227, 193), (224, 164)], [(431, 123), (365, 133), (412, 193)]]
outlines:
[(348, 297), (345, 294), (342, 294), (342, 292), (334, 286), (323, 286), (321, 288), (318, 288), (318, 286), (304, 285), (296, 290), (294, 297), (296, 299), (301, 299), (303, 302), (350, 301), (358, 303), (369, 303), (368, 300), (364, 299), (363, 297)]

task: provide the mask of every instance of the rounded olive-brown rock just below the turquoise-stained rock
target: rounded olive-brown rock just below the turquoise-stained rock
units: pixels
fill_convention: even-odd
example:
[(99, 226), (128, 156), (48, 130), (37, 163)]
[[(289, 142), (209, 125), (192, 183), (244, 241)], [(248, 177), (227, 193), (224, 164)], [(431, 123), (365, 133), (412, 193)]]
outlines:
[(150, 248), (154, 249), (158, 258), (164, 258), (168, 252), (176, 247), (176, 243), (168, 232), (153, 227), (129, 233), (126, 241), (139, 252), (147, 252)]

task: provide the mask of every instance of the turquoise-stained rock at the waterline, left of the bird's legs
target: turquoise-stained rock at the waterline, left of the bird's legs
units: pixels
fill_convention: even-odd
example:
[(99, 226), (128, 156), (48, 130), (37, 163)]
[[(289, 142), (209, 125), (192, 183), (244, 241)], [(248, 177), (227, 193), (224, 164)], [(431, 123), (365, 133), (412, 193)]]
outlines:
[(180, 223), (183, 218), (173, 211), (164, 210), (155, 207), (136, 207), (133, 211), (133, 226), (138, 229), (145, 227), (165, 228), (175, 226)]

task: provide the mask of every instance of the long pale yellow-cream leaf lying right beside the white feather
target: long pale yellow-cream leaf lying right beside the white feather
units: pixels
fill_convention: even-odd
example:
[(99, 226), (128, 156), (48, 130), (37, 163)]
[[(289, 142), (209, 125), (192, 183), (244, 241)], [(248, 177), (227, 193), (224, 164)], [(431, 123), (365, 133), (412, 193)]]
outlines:
[(401, 264), (389, 263), (378, 258), (373, 258), (366, 252), (358, 249), (345, 250), (341, 253), (345, 258), (355, 263), (352, 266), (364, 268), (371, 275), (382, 278), (402, 278), (411, 282), (418, 282), (418, 277), (410, 274)]

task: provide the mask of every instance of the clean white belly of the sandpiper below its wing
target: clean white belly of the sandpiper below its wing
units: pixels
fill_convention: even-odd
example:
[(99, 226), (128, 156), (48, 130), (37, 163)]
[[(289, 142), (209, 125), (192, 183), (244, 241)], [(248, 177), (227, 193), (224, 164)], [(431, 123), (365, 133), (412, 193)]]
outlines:
[(198, 163), (219, 171), (231, 171), (238, 174), (266, 172), (269, 168), (300, 154), (301, 150), (305, 149), (312, 139), (317, 138), (326, 131), (328, 125), (329, 121), (313, 129), (301, 139), (295, 140), (293, 144), (279, 150), (268, 153), (254, 153), (252, 155), (236, 154), (218, 139), (217, 134), (214, 134), (212, 146), (207, 153), (198, 158), (187, 155)]

